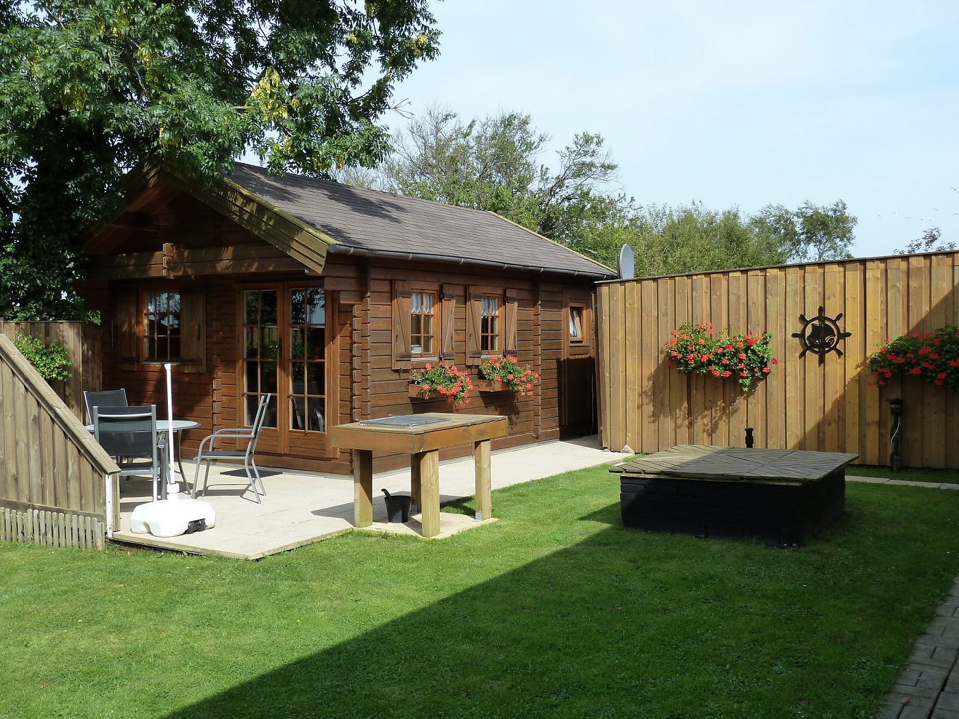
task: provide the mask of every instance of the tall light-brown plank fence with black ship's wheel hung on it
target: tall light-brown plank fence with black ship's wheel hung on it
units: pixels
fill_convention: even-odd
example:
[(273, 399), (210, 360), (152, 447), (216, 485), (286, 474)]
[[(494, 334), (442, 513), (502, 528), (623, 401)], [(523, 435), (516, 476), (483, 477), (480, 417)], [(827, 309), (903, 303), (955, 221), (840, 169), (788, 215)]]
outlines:
[[(600, 283), (600, 434), (604, 447), (660, 452), (678, 444), (851, 452), (888, 464), (888, 399), (901, 397), (903, 462), (959, 468), (959, 392), (916, 378), (880, 387), (866, 367), (878, 342), (959, 323), (959, 253), (768, 267)], [(819, 306), (852, 336), (843, 356), (800, 358), (799, 315)], [(667, 364), (670, 330), (769, 332), (779, 364), (743, 393), (733, 378), (680, 375)]]

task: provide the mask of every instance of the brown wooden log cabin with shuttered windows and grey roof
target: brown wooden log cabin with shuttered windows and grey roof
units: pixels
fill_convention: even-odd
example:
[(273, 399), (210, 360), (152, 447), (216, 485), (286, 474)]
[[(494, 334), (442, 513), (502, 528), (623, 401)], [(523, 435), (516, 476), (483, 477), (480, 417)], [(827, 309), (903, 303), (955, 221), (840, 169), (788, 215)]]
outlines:
[(500, 447), (595, 431), (594, 284), (614, 273), (495, 214), (243, 164), (213, 187), (148, 165), (83, 247), (104, 387), (162, 404), (172, 362), (176, 418), (200, 424), (184, 456), (269, 392), (259, 462), (347, 474), (327, 427), (449, 410), (410, 397), (410, 371), (442, 359), (477, 380), (505, 354), (539, 373), (533, 396), (459, 407), (506, 415)]

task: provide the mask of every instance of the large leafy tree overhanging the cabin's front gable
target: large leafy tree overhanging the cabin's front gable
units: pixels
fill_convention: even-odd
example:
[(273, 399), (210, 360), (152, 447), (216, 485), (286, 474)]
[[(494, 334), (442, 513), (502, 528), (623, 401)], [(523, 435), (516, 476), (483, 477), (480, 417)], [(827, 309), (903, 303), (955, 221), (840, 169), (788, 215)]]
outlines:
[(73, 238), (148, 156), (208, 181), (246, 148), (376, 165), (437, 38), (426, 0), (0, 0), (0, 316), (73, 308)]

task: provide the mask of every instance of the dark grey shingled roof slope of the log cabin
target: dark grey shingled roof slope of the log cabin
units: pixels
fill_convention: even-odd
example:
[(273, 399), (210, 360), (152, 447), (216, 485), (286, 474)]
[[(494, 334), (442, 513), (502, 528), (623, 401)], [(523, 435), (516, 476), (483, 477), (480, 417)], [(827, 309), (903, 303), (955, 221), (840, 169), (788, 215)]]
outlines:
[(609, 267), (492, 212), (242, 163), (228, 180), (333, 239), (327, 250), (336, 254), (615, 277)]

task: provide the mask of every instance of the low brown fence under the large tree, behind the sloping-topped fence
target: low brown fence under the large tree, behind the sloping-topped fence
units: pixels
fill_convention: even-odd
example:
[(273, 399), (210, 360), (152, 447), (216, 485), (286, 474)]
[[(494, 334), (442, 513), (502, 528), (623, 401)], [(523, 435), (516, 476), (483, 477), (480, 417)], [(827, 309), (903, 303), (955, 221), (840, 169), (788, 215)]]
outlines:
[(79, 419), (83, 417), (83, 390), (103, 388), (102, 330), (92, 322), (5, 322), (0, 320), (0, 335), (11, 339), (17, 335), (36, 337), (48, 347), (63, 345), (72, 360), (73, 377), (53, 383), (54, 391)]

